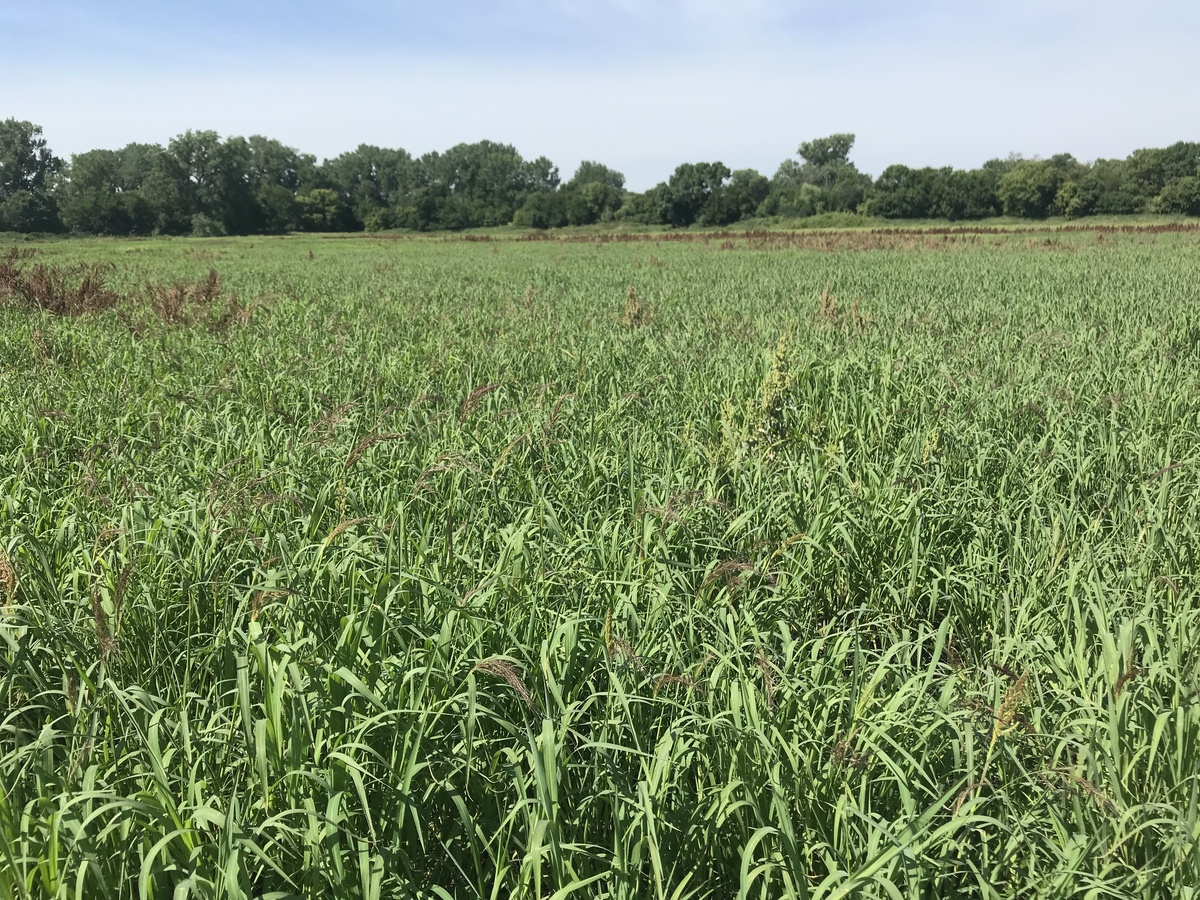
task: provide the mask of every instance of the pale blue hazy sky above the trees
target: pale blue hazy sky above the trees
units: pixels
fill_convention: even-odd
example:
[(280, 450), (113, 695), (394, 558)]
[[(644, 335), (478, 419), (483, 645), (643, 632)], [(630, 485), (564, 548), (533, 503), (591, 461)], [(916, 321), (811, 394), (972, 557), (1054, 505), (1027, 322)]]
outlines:
[(60, 156), (487, 138), (644, 190), (834, 132), (874, 175), (1200, 140), (1198, 50), (1198, 0), (0, 0), (0, 118)]

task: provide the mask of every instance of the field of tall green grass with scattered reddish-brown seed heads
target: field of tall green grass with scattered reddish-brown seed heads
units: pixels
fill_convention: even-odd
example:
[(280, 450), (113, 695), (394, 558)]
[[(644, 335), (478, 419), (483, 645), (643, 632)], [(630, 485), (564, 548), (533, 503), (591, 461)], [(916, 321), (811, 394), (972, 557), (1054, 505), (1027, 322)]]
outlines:
[(1200, 896), (1200, 234), (22, 248), (0, 896)]

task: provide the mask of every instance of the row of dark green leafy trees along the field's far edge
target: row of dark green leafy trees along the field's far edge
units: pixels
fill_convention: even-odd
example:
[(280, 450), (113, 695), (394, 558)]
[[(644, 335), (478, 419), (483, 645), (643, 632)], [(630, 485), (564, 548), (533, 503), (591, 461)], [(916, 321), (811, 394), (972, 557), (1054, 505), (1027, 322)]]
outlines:
[(562, 181), (545, 156), (480, 140), (444, 152), (360, 145), (317, 161), (278, 140), (187, 131), (166, 145), (55, 156), (42, 130), (0, 122), (0, 232), (283, 234), (458, 230), (629, 222), (728, 226), (828, 212), (881, 218), (1200, 216), (1200, 143), (1082, 163), (1009, 156), (977, 169), (889, 166), (872, 179), (850, 160), (853, 134), (800, 144), (772, 178), (720, 162), (684, 163), (644, 192), (599, 162)]

